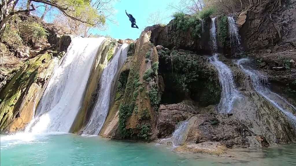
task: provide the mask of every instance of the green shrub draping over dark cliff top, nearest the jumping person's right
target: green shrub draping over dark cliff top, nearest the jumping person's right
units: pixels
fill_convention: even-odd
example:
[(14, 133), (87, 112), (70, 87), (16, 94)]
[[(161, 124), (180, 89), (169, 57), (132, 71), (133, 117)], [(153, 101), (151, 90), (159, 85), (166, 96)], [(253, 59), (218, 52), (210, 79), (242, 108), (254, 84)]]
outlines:
[(178, 31), (187, 32), (189, 28), (192, 29), (191, 36), (193, 38), (201, 37), (201, 24), (202, 22), (198, 18), (197, 14), (193, 14), (192, 16), (186, 15), (184, 13), (175, 13), (173, 14), (174, 23), (176, 24), (176, 28)]

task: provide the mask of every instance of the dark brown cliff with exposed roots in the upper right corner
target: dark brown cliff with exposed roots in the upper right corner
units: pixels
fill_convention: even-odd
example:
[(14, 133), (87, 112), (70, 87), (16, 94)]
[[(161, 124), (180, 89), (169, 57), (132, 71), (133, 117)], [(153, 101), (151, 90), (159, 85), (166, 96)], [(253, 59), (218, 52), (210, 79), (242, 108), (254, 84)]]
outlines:
[(246, 49), (250, 51), (266, 48), (273, 51), (295, 49), (296, 1), (281, 2), (282, 5), (277, 3), (278, 1), (264, 1), (239, 14), (237, 23), (241, 26), (240, 34)]

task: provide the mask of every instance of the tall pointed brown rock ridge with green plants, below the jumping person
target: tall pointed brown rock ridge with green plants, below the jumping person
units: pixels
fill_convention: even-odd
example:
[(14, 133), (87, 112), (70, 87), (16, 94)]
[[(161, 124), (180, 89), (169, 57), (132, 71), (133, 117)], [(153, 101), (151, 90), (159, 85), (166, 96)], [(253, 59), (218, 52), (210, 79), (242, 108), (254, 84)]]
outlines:
[[(121, 69), (115, 102), (111, 105), (100, 135), (109, 138), (154, 139), (156, 137), (158, 87), (158, 54), (150, 44), (150, 33), (142, 32), (134, 44), (134, 53)], [(128, 47), (128, 52), (130, 51)]]

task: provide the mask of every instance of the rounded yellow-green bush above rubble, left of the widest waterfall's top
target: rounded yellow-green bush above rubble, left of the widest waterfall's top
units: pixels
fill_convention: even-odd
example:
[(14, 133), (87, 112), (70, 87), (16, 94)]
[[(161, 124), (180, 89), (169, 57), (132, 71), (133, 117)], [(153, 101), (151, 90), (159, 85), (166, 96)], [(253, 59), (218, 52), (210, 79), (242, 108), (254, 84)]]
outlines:
[(47, 31), (37, 22), (22, 22), (20, 36), (24, 41), (37, 43), (46, 40)]

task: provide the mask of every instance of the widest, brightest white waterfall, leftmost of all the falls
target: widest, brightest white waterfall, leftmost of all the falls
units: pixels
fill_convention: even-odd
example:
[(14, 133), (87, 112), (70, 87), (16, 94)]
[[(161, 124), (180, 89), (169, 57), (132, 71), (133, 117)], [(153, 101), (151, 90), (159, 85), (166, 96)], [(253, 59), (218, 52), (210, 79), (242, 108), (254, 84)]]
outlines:
[(101, 38), (73, 38), (61, 64), (54, 70), (36, 116), (25, 131), (69, 132), (81, 106)]

